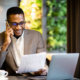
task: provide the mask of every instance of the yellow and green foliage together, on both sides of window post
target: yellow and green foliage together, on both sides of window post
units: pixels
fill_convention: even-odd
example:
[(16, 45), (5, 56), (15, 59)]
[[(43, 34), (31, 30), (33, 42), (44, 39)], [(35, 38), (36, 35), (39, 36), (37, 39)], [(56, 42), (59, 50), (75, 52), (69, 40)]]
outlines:
[[(47, 49), (66, 50), (66, 0), (46, 0), (47, 4)], [(42, 33), (42, 1), (21, 0), (20, 8), (25, 13), (27, 28)]]

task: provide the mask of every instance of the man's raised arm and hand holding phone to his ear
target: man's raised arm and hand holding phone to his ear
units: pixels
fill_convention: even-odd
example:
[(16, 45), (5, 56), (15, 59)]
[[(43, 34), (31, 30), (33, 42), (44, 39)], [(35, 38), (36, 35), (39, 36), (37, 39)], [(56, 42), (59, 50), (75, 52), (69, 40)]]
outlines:
[[(11, 43), (11, 36), (13, 35), (13, 30), (6, 25), (6, 31), (4, 32), (4, 35), (0, 34), (0, 68), (3, 65), (3, 62), (6, 59), (6, 55), (8, 53), (7, 49), (9, 44)], [(4, 37), (4, 42), (3, 42)]]

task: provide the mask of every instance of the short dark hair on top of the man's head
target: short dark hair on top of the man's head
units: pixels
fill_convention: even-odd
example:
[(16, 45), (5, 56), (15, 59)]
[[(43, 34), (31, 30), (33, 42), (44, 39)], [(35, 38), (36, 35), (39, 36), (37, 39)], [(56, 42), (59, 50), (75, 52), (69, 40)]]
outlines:
[(7, 14), (6, 14), (7, 20), (11, 14), (23, 14), (24, 16), (23, 10), (19, 7), (11, 7), (7, 10)]

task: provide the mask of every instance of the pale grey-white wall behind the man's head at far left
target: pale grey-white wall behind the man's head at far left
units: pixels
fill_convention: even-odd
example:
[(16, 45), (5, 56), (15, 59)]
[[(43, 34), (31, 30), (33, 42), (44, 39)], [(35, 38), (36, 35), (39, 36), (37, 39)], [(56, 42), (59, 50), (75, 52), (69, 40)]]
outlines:
[(13, 6), (18, 6), (18, 0), (0, 0), (0, 33), (6, 28), (6, 11)]

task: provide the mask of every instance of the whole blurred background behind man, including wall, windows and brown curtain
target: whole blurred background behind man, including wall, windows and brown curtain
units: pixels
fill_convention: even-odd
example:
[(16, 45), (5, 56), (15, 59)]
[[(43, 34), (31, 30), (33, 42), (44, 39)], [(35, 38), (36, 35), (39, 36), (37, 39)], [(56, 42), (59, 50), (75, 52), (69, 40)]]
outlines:
[[(0, 0), (0, 33), (13, 6), (23, 9), (26, 29), (42, 34), (47, 53), (80, 53), (80, 0)], [(75, 77), (80, 78), (80, 56)]]

